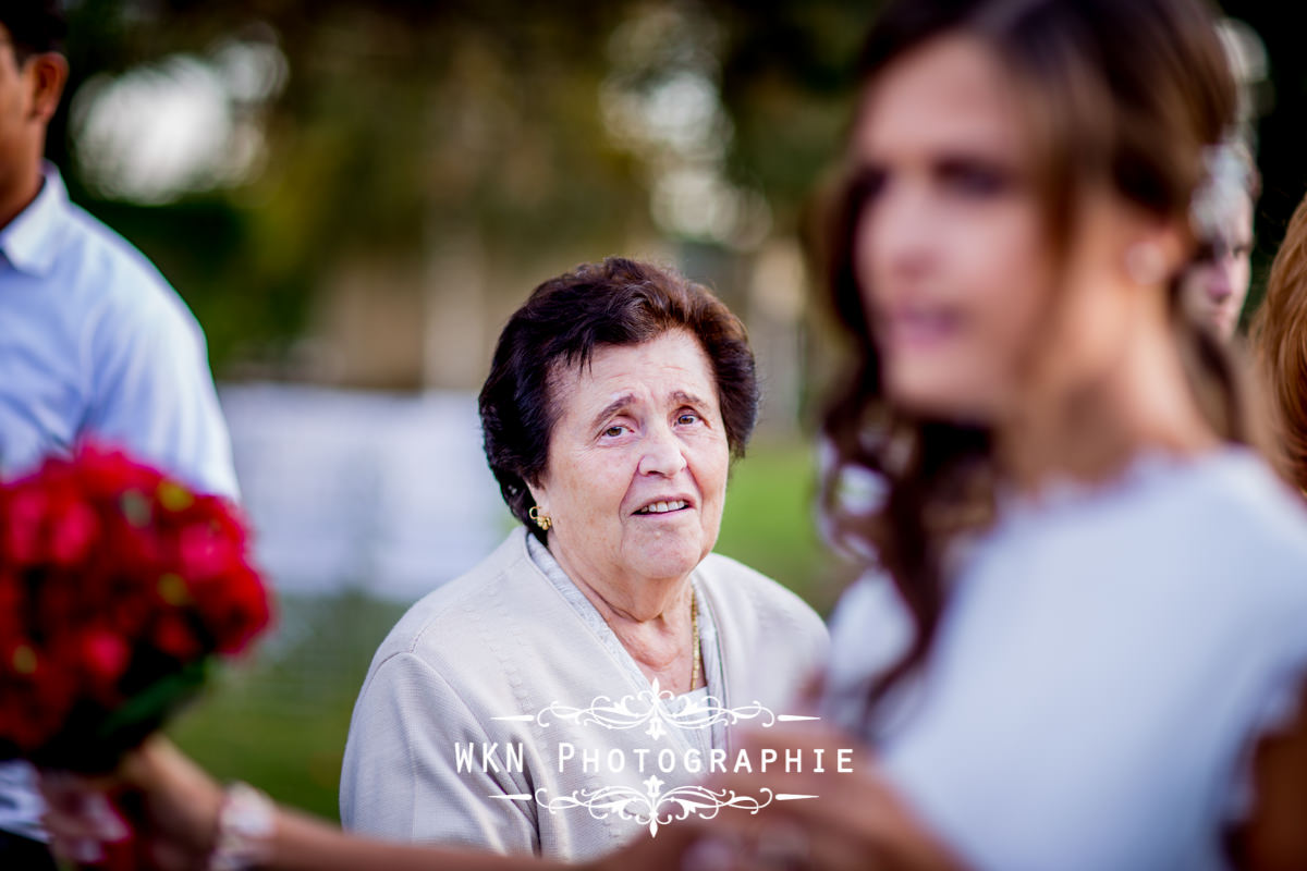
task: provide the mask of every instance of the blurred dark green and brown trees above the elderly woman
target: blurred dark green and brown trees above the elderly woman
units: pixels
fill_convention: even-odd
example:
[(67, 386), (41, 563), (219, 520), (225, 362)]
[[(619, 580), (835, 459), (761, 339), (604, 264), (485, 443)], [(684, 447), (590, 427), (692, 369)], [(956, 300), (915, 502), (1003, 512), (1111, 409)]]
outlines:
[(838, 138), (860, 4), (81, 0), (69, 9), (69, 94), (133, 71), (175, 74), (169, 59), (212, 60), (234, 39), (276, 46), (289, 77), (269, 103), (234, 107), (257, 115), (263, 136), (259, 171), (237, 184), (165, 202), (95, 184), (68, 136), (72, 99), (50, 154), (74, 198), (173, 278), (221, 371), (284, 353), (350, 256), (471, 239), (494, 260), (527, 260), (652, 235), (660, 158), (614, 137), (603, 98), (626, 60), (614, 33), (660, 8), (691, 27), (672, 34), (667, 56), (720, 30), (698, 42), (720, 55), (710, 60), (729, 118), (725, 172), (763, 195), (775, 231), (789, 230)]

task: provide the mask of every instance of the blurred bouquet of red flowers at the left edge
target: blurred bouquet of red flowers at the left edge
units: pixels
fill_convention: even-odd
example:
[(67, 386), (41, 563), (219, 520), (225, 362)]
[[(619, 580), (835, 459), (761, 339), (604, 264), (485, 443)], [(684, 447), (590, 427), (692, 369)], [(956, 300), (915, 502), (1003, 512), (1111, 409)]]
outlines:
[(114, 451), (0, 486), (0, 759), (111, 769), (268, 624), (234, 505)]

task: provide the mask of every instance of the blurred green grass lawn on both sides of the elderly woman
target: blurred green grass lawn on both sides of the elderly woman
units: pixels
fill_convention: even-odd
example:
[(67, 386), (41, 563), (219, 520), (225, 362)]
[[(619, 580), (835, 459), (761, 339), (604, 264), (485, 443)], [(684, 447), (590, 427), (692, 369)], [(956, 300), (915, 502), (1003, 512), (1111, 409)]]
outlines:
[[(718, 550), (825, 611), (836, 571), (813, 531), (812, 481), (805, 445), (750, 449), (731, 479)], [(170, 734), (216, 777), (337, 819), (354, 697), (403, 611), (359, 593), (285, 597), (278, 628), (254, 661), (227, 671)]]

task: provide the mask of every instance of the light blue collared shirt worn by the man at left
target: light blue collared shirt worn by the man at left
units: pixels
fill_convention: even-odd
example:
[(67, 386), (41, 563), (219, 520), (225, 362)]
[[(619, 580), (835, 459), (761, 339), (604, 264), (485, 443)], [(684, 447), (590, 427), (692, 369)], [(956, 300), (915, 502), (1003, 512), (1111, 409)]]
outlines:
[[(0, 478), (94, 439), (204, 492), (237, 498), (204, 334), (122, 236), (68, 201), (46, 165), (0, 230)], [(24, 764), (0, 764), (0, 829), (42, 838)]]

